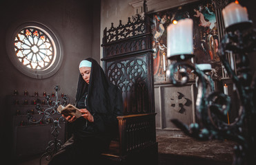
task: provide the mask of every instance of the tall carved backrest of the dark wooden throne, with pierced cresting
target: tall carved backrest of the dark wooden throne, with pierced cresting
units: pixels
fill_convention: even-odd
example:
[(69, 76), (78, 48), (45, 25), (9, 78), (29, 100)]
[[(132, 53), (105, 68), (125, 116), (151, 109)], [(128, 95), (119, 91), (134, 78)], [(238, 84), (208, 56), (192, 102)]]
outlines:
[(104, 30), (101, 60), (110, 82), (122, 91), (124, 114), (155, 112), (148, 17), (137, 14), (132, 20)]

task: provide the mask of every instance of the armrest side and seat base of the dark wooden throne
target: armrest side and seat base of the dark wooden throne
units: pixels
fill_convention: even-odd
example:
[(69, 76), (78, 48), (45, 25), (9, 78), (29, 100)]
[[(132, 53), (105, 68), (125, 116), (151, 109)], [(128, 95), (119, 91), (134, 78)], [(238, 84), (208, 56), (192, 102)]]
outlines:
[(157, 164), (155, 114), (118, 116), (119, 138), (101, 154), (111, 164)]

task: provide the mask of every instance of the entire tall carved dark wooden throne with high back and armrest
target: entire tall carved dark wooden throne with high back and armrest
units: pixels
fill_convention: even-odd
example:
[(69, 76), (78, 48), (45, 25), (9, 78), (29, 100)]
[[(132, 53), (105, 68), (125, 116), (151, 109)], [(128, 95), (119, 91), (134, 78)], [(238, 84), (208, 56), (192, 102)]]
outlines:
[[(124, 115), (119, 120), (119, 155), (126, 161), (157, 164), (155, 101), (152, 78), (151, 34), (148, 17), (137, 15), (126, 25), (104, 30), (104, 70), (110, 82), (121, 89)], [(146, 148), (149, 153), (145, 153)], [(136, 157), (129, 157), (136, 151)], [(140, 160), (137, 160), (139, 155)], [(136, 158), (136, 159), (135, 159)]]

